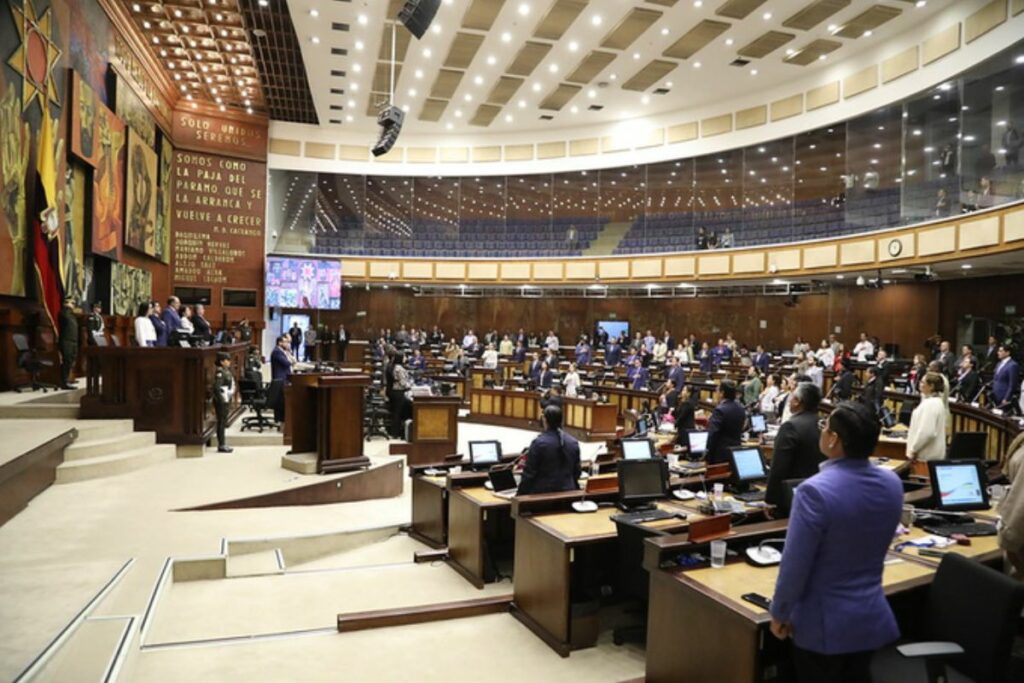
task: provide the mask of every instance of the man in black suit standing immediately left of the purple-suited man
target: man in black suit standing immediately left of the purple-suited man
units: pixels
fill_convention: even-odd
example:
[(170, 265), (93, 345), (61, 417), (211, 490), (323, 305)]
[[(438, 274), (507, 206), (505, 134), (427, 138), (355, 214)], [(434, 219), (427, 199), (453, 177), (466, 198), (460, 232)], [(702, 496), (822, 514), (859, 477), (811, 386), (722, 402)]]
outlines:
[[(791, 417), (775, 435), (765, 503), (783, 506), (786, 479), (806, 479), (818, 473), (818, 465), (825, 459), (818, 447), (820, 402), (821, 390), (811, 382), (801, 382), (790, 394)], [(787, 514), (790, 511), (780, 508), (779, 512)]]

